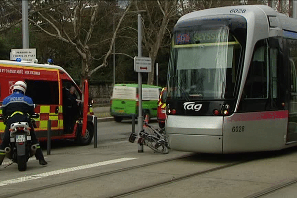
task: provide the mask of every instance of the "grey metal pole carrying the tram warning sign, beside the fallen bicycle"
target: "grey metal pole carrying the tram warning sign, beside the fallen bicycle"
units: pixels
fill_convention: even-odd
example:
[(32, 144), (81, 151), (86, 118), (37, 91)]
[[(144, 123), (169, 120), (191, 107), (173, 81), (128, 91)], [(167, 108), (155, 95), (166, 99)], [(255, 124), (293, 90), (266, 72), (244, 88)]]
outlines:
[[(141, 25), (141, 15), (138, 14), (137, 18), (137, 31), (138, 31), (138, 56), (142, 56), (142, 25)], [(138, 93), (139, 93), (139, 106), (138, 106), (138, 118), (137, 118), (137, 124), (138, 124), (138, 133), (140, 133), (144, 126), (143, 126), (143, 114), (142, 114), (142, 74), (141, 72), (138, 72)], [(138, 134), (140, 135), (140, 134)], [(138, 144), (138, 152), (144, 152), (144, 146)]]

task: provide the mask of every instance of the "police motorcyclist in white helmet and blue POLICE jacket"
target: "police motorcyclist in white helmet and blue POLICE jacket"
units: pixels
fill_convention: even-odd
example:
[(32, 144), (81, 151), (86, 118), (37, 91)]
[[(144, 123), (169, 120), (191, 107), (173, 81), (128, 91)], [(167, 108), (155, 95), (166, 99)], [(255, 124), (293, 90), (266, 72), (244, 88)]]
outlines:
[(34, 127), (30, 122), (30, 116), (34, 114), (33, 101), (30, 97), (25, 96), (27, 84), (23, 81), (17, 81), (12, 85), (13, 93), (3, 99), (2, 102), (2, 114), (4, 122), (6, 124), (4, 130), (4, 138), (0, 145), (0, 165), (5, 156), (4, 148), (8, 147), (10, 142), (10, 124), (14, 122), (28, 122), (30, 123), (30, 135), (32, 144), (37, 144), (37, 150), (35, 153), (36, 159), (39, 160), (39, 164), (46, 165), (48, 162), (44, 159), (42, 150), (39, 146), (39, 141), (36, 138)]

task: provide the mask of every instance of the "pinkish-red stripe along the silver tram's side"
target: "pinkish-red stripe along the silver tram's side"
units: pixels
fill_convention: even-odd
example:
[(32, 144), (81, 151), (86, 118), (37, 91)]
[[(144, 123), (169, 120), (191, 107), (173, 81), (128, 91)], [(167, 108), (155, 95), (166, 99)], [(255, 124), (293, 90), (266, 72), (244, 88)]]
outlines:
[(248, 112), (248, 113), (234, 113), (230, 117), (225, 117), (226, 121), (255, 121), (255, 120), (273, 120), (284, 119), (289, 117), (289, 111), (261, 111), (261, 112)]

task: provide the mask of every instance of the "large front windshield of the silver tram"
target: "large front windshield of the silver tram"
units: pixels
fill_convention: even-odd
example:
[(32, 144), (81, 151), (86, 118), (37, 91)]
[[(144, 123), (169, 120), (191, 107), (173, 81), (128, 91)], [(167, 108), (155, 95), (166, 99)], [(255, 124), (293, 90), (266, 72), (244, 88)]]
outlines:
[(243, 47), (226, 25), (176, 30), (169, 63), (169, 99), (233, 99)]

